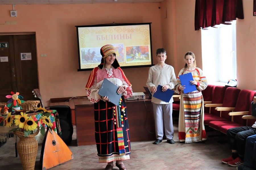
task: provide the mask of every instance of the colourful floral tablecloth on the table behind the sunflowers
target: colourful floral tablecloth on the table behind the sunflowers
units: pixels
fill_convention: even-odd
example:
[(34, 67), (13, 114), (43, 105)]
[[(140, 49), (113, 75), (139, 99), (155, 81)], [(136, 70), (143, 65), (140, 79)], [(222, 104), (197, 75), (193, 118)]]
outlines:
[[(12, 115), (12, 118), (14, 118), (16, 114)], [(61, 134), (61, 128), (59, 125), (59, 114), (56, 110), (50, 110), (50, 112), (34, 112), (34, 113), (28, 113), (28, 117), (31, 117), (34, 121), (39, 120), (40, 117), (44, 115), (50, 118), (51, 123), (53, 126), (51, 129), (57, 133)], [(6, 121), (5, 118), (7, 118), (7, 115), (0, 116), (0, 142), (5, 142), (9, 139), (9, 137), (13, 137), (13, 132), (9, 132), (11, 129), (16, 128), (17, 126), (13, 124), (11, 127), (6, 127)], [(42, 125), (41, 121), (38, 121), (38, 126), (40, 128), (47, 128), (46, 125)], [(38, 133), (38, 135), (35, 137), (38, 143), (42, 143), (44, 140), (44, 136), (41, 133)]]

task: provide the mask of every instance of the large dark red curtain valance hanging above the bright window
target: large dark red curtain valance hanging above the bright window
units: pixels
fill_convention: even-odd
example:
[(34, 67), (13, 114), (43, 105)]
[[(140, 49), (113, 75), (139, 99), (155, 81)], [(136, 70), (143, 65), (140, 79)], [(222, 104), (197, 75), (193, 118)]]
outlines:
[(243, 19), (242, 0), (196, 0), (195, 30)]

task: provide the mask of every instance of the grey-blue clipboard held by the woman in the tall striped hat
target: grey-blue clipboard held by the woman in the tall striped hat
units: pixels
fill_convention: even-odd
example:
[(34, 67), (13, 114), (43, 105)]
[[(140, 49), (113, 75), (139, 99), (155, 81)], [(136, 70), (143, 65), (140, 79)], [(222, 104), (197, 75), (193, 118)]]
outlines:
[(100, 90), (99, 90), (98, 94), (103, 97), (108, 96), (108, 99), (111, 103), (113, 103), (114, 105), (118, 105), (120, 98), (121, 98), (121, 94), (117, 94), (118, 88), (119, 87), (117, 87), (111, 81), (104, 78), (104, 80), (100, 86)]

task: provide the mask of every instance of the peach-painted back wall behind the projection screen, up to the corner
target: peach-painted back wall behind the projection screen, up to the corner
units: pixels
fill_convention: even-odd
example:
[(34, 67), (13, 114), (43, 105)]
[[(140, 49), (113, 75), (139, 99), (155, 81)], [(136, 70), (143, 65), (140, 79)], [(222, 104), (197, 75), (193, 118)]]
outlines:
[[(80, 71), (75, 25), (151, 22), (152, 50), (162, 47), (160, 3), (0, 6), (0, 32), (36, 32), (39, 89), (47, 106), (50, 98), (86, 95), (91, 71)], [(16, 21), (16, 25), (6, 25)], [(47, 57), (40, 57), (46, 54)], [(154, 59), (154, 64), (156, 61)], [(123, 69), (134, 92), (144, 91), (149, 67)]]

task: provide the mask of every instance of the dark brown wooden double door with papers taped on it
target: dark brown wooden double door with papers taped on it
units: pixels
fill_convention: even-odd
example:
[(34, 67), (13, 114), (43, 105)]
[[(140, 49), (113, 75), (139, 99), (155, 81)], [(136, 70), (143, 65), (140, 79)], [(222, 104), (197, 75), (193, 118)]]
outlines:
[[(33, 89), (38, 88), (35, 35), (0, 35), (0, 102), (6, 95), (19, 92), (23, 100), (34, 100)], [(25, 55), (26, 54), (26, 55)]]

